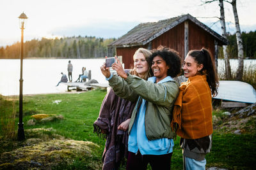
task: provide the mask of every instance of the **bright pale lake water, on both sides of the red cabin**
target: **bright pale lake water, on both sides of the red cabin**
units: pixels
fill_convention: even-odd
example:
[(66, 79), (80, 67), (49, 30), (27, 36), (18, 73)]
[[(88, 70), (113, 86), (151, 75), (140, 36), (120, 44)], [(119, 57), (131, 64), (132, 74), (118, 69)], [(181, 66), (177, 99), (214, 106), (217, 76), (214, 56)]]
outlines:
[[(68, 60), (73, 65), (73, 81), (82, 73), (82, 67), (92, 71), (92, 79), (99, 83), (108, 83), (100, 71), (104, 59), (24, 59), (23, 94), (44, 94), (67, 91), (67, 86), (55, 87), (60, 81), (61, 72), (67, 74)], [(236, 70), (237, 60), (230, 60), (232, 70)], [(244, 67), (256, 65), (256, 60), (244, 60)], [(20, 60), (0, 59), (0, 94), (19, 95)], [(218, 70), (223, 71), (224, 61), (218, 60)]]

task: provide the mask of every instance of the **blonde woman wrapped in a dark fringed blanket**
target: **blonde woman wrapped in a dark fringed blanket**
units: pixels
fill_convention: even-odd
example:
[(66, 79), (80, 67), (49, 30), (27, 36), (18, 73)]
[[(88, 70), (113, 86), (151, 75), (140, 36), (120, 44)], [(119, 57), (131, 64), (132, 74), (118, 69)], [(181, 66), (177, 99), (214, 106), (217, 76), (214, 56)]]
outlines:
[[(147, 80), (150, 73), (148, 57), (152, 53), (139, 48), (134, 53), (134, 69), (129, 73)], [(119, 169), (121, 160), (128, 155), (128, 126), (134, 109), (134, 101), (127, 101), (115, 95), (113, 89), (106, 94), (100, 107), (99, 118), (94, 122), (94, 131), (106, 137), (102, 155), (102, 169)]]

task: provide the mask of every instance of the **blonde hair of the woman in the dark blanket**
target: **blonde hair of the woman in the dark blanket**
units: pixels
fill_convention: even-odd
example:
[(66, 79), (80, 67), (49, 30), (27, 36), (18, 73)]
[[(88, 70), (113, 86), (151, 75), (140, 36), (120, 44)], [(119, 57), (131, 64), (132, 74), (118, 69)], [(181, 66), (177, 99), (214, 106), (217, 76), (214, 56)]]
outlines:
[[(141, 76), (140, 78), (143, 78), (144, 80), (147, 80), (148, 77), (152, 76), (152, 73), (150, 71), (150, 66), (151, 66), (151, 63), (150, 63), (150, 60), (149, 60), (149, 56), (152, 54), (152, 52), (150, 52), (150, 50), (146, 49), (146, 48), (139, 48), (138, 50), (136, 50), (136, 52), (134, 53), (133, 55), (133, 60), (135, 59), (136, 55), (138, 53), (142, 53), (145, 57), (145, 59), (147, 60), (148, 62), (148, 70), (146, 71), (145, 74), (143, 74), (143, 76)], [(136, 71), (136, 68), (134, 67), (131, 71), (130, 71), (131, 74), (134, 74), (136, 76), (139, 76), (139, 74), (137, 73)]]

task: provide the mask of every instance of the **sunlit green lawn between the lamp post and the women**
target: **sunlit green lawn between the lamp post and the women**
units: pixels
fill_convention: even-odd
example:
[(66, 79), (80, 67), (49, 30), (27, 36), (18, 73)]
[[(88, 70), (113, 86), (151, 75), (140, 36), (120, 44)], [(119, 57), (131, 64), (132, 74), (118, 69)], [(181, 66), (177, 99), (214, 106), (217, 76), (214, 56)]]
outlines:
[[(36, 113), (63, 115), (64, 120), (46, 122), (34, 126), (24, 125), (24, 129), (49, 128), (56, 129), (56, 133), (75, 140), (92, 141), (101, 144), (99, 138), (93, 134), (92, 125), (99, 115), (100, 104), (106, 92), (95, 90), (80, 94), (49, 94), (43, 96), (25, 97), (24, 111), (36, 110)], [(59, 104), (54, 101), (61, 100)], [(24, 122), (30, 115), (23, 118)]]

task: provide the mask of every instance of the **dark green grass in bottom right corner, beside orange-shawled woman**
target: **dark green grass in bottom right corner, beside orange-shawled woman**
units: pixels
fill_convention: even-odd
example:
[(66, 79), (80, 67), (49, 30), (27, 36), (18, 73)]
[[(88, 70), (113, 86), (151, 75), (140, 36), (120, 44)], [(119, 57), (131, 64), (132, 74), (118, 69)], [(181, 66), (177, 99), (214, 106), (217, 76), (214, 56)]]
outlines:
[(212, 136), (212, 150), (207, 155), (208, 166), (228, 169), (254, 169), (256, 166), (255, 134), (218, 134)]

